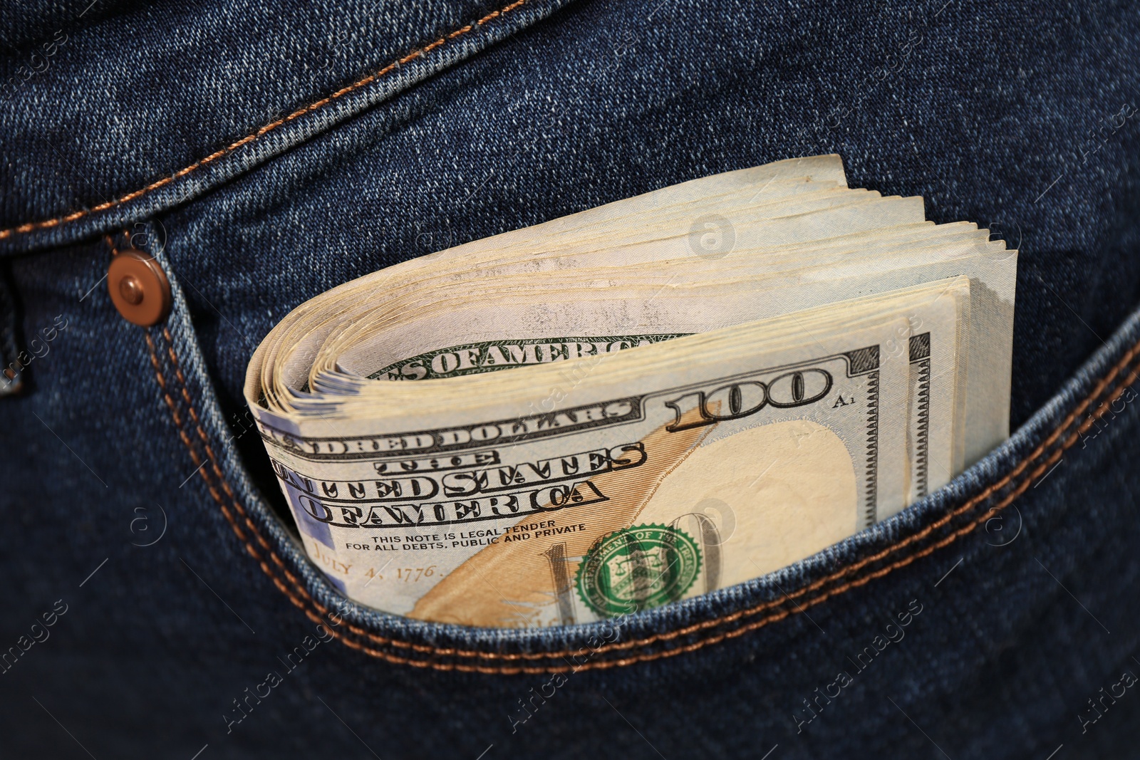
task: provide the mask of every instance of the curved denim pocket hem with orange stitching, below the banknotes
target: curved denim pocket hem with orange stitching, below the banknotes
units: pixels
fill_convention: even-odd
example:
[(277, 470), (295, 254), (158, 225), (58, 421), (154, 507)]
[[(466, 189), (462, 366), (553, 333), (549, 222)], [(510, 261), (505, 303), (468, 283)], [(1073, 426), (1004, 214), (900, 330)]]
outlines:
[[(193, 335), (162, 333), (156, 356), (195, 350)], [(779, 624), (877, 579), (905, 573), (955, 544), (1008, 540), (1010, 532), (997, 533), (1017, 529), (1012, 517), (1004, 521), (1003, 515), (1012, 515), (1008, 507), (1047, 476), (1067, 451), (1088, 446), (1089, 436), (1106, 419), (1126, 410), (1134, 395), (1130, 384), (1140, 366), (1138, 336), (1140, 317), (1134, 314), (1009, 441), (898, 515), (763, 578), (594, 623), (480, 629), (363, 607), (344, 598), (304, 555), (250, 484), (231, 443), (219, 447), (221, 456), (211, 467), (212, 477), (219, 506), (278, 591), (363, 654), (418, 668), (481, 673), (625, 667), (695, 652)], [(184, 363), (202, 367), (199, 360)], [(172, 394), (182, 395), (185, 384), (194, 384), (194, 371), (179, 366), (164, 379)], [(201, 415), (186, 415), (184, 422), (190, 426), (192, 419)], [(209, 436), (202, 428), (186, 432)]]

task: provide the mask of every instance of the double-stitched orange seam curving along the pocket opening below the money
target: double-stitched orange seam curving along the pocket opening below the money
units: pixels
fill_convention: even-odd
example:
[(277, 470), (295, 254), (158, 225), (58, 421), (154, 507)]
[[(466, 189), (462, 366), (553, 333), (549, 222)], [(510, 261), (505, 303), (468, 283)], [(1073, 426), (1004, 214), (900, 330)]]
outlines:
[[(162, 362), (158, 359), (158, 351), (155, 348), (155, 343), (150, 338), (150, 335), (146, 334), (145, 337), (147, 342), (147, 348), (150, 352), (152, 365), (154, 366), (155, 369), (155, 378), (162, 391), (163, 399), (166, 406), (171, 410), (171, 414), (174, 419), (174, 425), (179, 433), (179, 438), (182, 440), (184, 444), (189, 450), (190, 458), (194, 461), (194, 464), (199, 466), (198, 473), (205, 481), (211, 496), (214, 498), (215, 501), (218, 501), (219, 506), (221, 507), (222, 514), (229, 522), (230, 526), (234, 529), (235, 534), (245, 545), (246, 550), (250, 553), (250, 555), (253, 556), (259, 562), (262, 571), (264, 571), (266, 574), (269, 575), (269, 578), (274, 581), (274, 585), (277, 586), (277, 588), (282, 590), (290, 598), (290, 600), (293, 602), (293, 604), (300, 607), (306, 613), (307, 616), (309, 616), (311, 620), (316, 622), (324, 622), (321, 616), (317, 615), (316, 613), (312, 612), (312, 610), (309, 610), (307, 607), (307, 604), (312, 605), (312, 607), (318, 610), (321, 615), (328, 614), (327, 607), (323, 606), (316, 599), (314, 599), (304, 589), (304, 587), (300, 583), (296, 577), (292, 572), (290, 572), (285, 563), (280, 559), (277, 553), (274, 551), (270, 544), (266, 541), (266, 539), (261, 536), (256, 525), (253, 523), (253, 521), (246, 514), (245, 509), (242, 507), (241, 500), (236, 497), (233, 489), (226, 482), (225, 475), (222, 474), (217, 457), (214, 456), (213, 450), (210, 447), (207, 436), (202, 427), (201, 420), (194, 408), (189, 392), (186, 387), (186, 378), (181, 371), (178, 358), (174, 353), (170, 332), (163, 328), (162, 335), (166, 343), (165, 354), (169, 358), (170, 367), (173, 371), (173, 377), (177, 379), (177, 386), (173, 386), (174, 384), (169, 382), (166, 373), (163, 371)], [(779, 607), (785, 603), (785, 599), (781, 598), (771, 602), (765, 602), (763, 604), (756, 605), (747, 610), (741, 610), (728, 615), (706, 620), (700, 623), (694, 623), (673, 631), (657, 634), (636, 640), (606, 644), (594, 649), (588, 649), (583, 647), (579, 649), (565, 649), (560, 652), (546, 652), (546, 653), (504, 654), (496, 652), (478, 652), (469, 649), (413, 644), (409, 641), (401, 641), (398, 639), (391, 639), (388, 637), (377, 636), (375, 634), (372, 634), (369, 631), (366, 631), (357, 626), (352, 626), (347, 622), (344, 627), (348, 629), (348, 631), (350, 631), (350, 634), (345, 634), (344, 631), (337, 630), (337, 627), (329, 627), (329, 630), (333, 632), (334, 636), (336, 636), (337, 639), (340, 639), (347, 646), (361, 651), (372, 656), (381, 657), (389, 662), (409, 664), (421, 668), (430, 667), (437, 670), (459, 670), (459, 671), (503, 673), (503, 675), (523, 673), (523, 672), (526, 673), (564, 672), (570, 670), (577, 671), (577, 670), (613, 668), (618, 665), (630, 664), (634, 662), (643, 662), (649, 660), (657, 660), (660, 657), (675, 656), (678, 654), (683, 654), (685, 652), (692, 652), (702, 648), (710, 644), (716, 644), (727, 638), (735, 638), (746, 632), (766, 626), (771, 622), (775, 622), (784, 618), (788, 618), (795, 612), (800, 612), (807, 607), (821, 604), (822, 602), (826, 600), (832, 596), (842, 594), (847, 590), (850, 590), (852, 588), (857, 588), (860, 586), (863, 586), (876, 578), (881, 578), (882, 575), (886, 575), (887, 573), (893, 572), (894, 570), (909, 565), (915, 559), (925, 557), (936, 551), (937, 549), (943, 548), (956, 541), (959, 538), (975, 530), (982, 522), (991, 518), (994, 514), (996, 514), (1001, 509), (1004, 509), (1009, 504), (1019, 498), (1033, 484), (1033, 482), (1036, 481), (1047, 469), (1052, 467), (1060, 459), (1065, 450), (1075, 444), (1076, 441), (1080, 439), (1080, 436), (1083, 433), (1085, 433), (1096, 423), (1096, 420), (1100, 419), (1100, 417), (1105, 415), (1107, 406), (1114, 402), (1116, 399), (1118, 399), (1121, 394), (1125, 391), (1125, 389), (1132, 382), (1135, 381), (1137, 378), (1135, 368), (1131, 367), (1130, 365), (1133, 361), (1133, 359), (1135, 359), (1138, 353), (1140, 353), (1140, 342), (1134, 344), (1113, 367), (1113, 369), (1097, 383), (1097, 385), (1092, 389), (1089, 395), (1080, 404), (1077, 404), (1065, 417), (1065, 419), (1050, 433), (1050, 435), (1044, 441), (1042, 441), (1041, 444), (1039, 444), (1025, 459), (1023, 459), (1004, 477), (996, 481), (995, 483), (986, 488), (984, 491), (972, 497), (971, 499), (967, 500), (964, 504), (960, 505), (959, 507), (951, 510), (946, 515), (943, 515), (940, 518), (938, 518), (930, 525), (927, 525), (921, 531), (918, 531), (917, 533), (913, 533), (912, 536), (909, 536), (893, 544), (891, 546), (887, 547), (886, 549), (874, 555), (871, 555), (856, 563), (845, 566), (825, 578), (821, 578), (801, 589), (798, 589), (796, 591), (792, 591), (791, 594), (785, 595), (787, 600), (792, 602), (795, 604), (796, 598), (813, 594), (814, 591), (819, 591), (829, 583), (841, 580), (847, 575), (850, 575), (852, 573), (858, 572), (860, 570), (872, 563), (883, 559), (885, 557), (894, 553), (897, 553), (911, 545), (915, 545), (919, 541), (922, 541), (927, 537), (930, 537), (931, 533), (934, 533), (935, 531), (947, 525), (955, 517), (962, 516), (964, 513), (969, 512), (974, 507), (977, 507), (983, 501), (986, 501), (997, 491), (1001, 491), (1002, 489), (1012, 485), (1013, 487), (1012, 490), (1010, 490), (1010, 492), (1007, 493), (996, 505), (992, 506), (990, 509), (982, 512), (979, 515), (972, 517), (967, 524), (955, 529), (953, 532), (935, 541), (934, 544), (930, 544), (929, 546), (926, 546), (925, 548), (921, 549), (915, 547), (915, 549), (912, 550), (910, 554), (897, 558), (891, 564), (888, 564), (886, 566), (879, 567), (873, 571), (869, 571), (863, 575), (850, 579), (839, 586), (822, 590), (816, 596), (805, 599), (800, 604), (796, 604), (795, 608), (776, 610), (772, 614), (762, 618), (759, 620), (751, 621), (748, 624), (743, 624), (731, 630), (707, 636), (705, 638), (701, 638), (697, 641), (693, 641), (684, 646), (675, 646), (673, 648), (659, 652), (635, 654), (633, 656), (625, 659), (610, 659), (601, 661), (594, 660), (592, 662), (579, 664), (578, 667), (572, 667), (570, 664), (565, 665), (552, 664), (552, 665), (540, 665), (540, 667), (502, 667), (502, 665), (487, 667), (487, 665), (470, 665), (470, 664), (454, 663), (454, 662), (439, 662), (432, 660), (402, 657), (389, 652), (383, 652), (380, 649), (372, 648), (365, 644), (352, 640), (351, 636), (355, 635), (357, 637), (361, 637), (378, 645), (393, 646), (404, 649), (410, 649), (413, 652), (426, 653), (430, 655), (434, 655), (437, 657), (461, 656), (461, 657), (479, 657), (483, 660), (503, 660), (503, 661), (562, 659), (563, 662), (565, 662), (564, 657), (567, 656), (579, 656), (591, 652), (593, 653), (592, 656), (597, 656), (597, 655), (603, 655), (611, 651), (624, 651), (633, 647), (645, 647), (651, 644), (669, 641), (678, 637), (699, 632), (709, 628), (723, 627), (728, 623), (740, 621), (744, 618), (755, 616), (767, 610), (773, 610), (774, 607)], [(1105, 391), (1116, 381), (1116, 378), (1121, 375), (1121, 373), (1125, 370), (1127, 370), (1125, 382), (1117, 385), (1115, 390), (1110, 394), (1108, 394), (1107, 398), (1101, 399)], [(180, 401), (176, 401), (174, 398), (180, 398)], [(1083, 415), (1092, 403), (1097, 402), (1098, 400), (1100, 401), (1100, 403), (1097, 407), (1097, 409), (1091, 415), (1089, 415), (1089, 417), (1083, 423), (1076, 425), (1076, 427), (1073, 428), (1076, 419), (1081, 415)], [(180, 409), (185, 409), (186, 414), (184, 415), (180, 411)], [(195, 440), (195, 435), (197, 440)], [(1054, 448), (1054, 444), (1058, 441), (1060, 441), (1060, 444)], [(205, 458), (201, 456), (199, 449), (205, 452)], [(1047, 452), (1049, 452), (1048, 456)], [(1033, 467), (1033, 469), (1031, 471), (1029, 468), (1035, 463), (1039, 463), (1039, 460), (1041, 460), (1040, 464), (1037, 464), (1037, 466)], [(206, 467), (206, 464), (209, 464), (210, 466)], [(225, 492), (225, 495), (228, 497), (228, 499), (223, 498), (222, 493), (219, 492), (219, 487), (221, 491)], [(233, 509), (230, 507), (233, 507)], [(254, 547), (253, 544), (250, 541), (250, 539), (246, 537), (246, 532), (241, 528), (237, 518), (235, 518), (234, 516), (235, 513), (241, 516), (242, 523), (244, 523), (250, 534), (252, 534), (253, 538), (256, 539), (256, 542), (261, 547), (261, 550), (269, 555), (270, 559), (277, 567), (276, 571), (264, 561), (264, 558), (261, 556), (261, 551), (259, 551), (258, 548)], [(287, 588), (286, 585), (282, 581), (280, 577), (278, 577), (277, 574), (278, 572), (284, 574), (288, 583), (293, 587), (292, 590)]]

